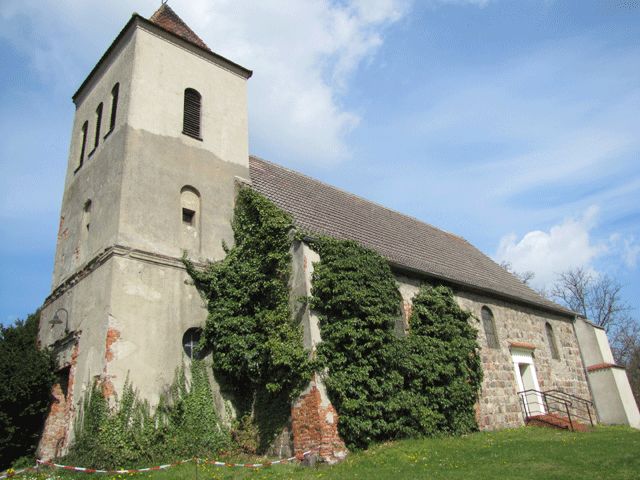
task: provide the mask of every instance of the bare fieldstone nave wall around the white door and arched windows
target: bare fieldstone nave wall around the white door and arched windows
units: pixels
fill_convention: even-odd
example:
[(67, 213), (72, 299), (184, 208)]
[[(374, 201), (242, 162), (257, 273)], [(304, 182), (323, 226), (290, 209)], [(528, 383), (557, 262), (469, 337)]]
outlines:
[[(398, 286), (405, 305), (405, 322), (411, 308), (407, 304), (419, 289), (421, 280), (397, 275)], [(478, 425), (482, 430), (512, 428), (524, 424), (518, 383), (512, 360), (512, 349), (525, 346), (533, 350), (533, 361), (541, 390), (558, 389), (591, 400), (580, 349), (572, 320), (515, 302), (496, 299), (477, 293), (454, 292), (459, 305), (473, 315), (473, 326), (478, 330), (478, 343), (484, 379), (477, 405)], [(498, 348), (489, 348), (482, 327), (481, 309), (488, 307), (493, 313)], [(546, 337), (545, 324), (555, 334), (559, 359), (553, 359)]]

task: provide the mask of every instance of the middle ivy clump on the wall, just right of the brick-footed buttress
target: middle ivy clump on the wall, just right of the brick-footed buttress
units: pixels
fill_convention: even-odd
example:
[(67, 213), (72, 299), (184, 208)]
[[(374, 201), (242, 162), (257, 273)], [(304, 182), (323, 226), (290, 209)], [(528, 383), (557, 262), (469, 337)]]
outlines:
[(395, 435), (389, 400), (403, 379), (393, 369), (393, 334), (401, 297), (388, 262), (355, 242), (321, 238), (312, 246), (311, 307), (319, 314), (319, 364), (351, 448)]

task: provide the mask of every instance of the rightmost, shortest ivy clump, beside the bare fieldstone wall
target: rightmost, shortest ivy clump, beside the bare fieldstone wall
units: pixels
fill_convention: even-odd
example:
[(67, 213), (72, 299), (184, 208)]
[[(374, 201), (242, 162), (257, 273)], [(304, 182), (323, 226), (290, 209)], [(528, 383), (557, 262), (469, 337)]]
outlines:
[(470, 318), (448, 287), (424, 285), (413, 298), (410, 333), (394, 355), (404, 378), (395, 415), (403, 436), (477, 430), (482, 365)]

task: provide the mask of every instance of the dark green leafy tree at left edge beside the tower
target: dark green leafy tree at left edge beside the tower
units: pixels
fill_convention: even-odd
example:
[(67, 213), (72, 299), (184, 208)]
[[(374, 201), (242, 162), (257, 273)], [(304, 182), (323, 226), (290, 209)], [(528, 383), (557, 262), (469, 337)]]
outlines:
[(54, 363), (36, 346), (39, 320), (0, 326), (0, 470), (35, 453), (49, 410)]

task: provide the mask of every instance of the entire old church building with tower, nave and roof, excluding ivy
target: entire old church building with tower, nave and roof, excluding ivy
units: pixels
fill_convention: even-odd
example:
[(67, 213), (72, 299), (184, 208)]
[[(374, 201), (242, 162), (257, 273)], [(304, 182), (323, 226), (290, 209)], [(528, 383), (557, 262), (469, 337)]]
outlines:
[[(581, 423), (640, 428), (603, 330), (461, 237), (251, 156), (251, 75), (163, 4), (149, 19), (131, 17), (73, 95), (52, 291), (39, 331), (59, 368), (41, 458), (66, 453), (96, 380), (115, 398), (128, 378), (153, 405), (176, 368), (189, 364), (207, 309), (182, 252), (201, 262), (224, 257), (240, 188), (255, 189), (305, 231), (355, 240), (386, 258), (403, 298), (399, 331), (422, 283), (450, 286), (478, 331), (481, 429), (542, 421), (549, 398)], [(301, 241), (292, 257), (292, 295), (308, 295), (318, 254)], [(321, 341), (318, 318), (304, 308), (298, 316), (312, 350)], [(223, 414), (225, 399), (215, 396)], [(292, 405), (280, 451), (318, 448), (326, 460), (342, 458), (339, 416), (314, 378)]]

